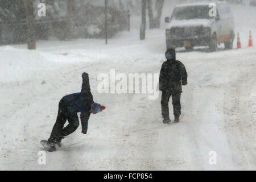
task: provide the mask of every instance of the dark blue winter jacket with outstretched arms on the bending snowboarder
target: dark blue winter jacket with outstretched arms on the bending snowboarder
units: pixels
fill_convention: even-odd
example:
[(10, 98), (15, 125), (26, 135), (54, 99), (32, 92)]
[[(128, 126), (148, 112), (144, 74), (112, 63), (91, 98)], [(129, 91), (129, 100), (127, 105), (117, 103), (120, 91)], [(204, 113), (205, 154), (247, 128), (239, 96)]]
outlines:
[(90, 92), (89, 76), (87, 73), (82, 73), (82, 89), (79, 93), (69, 94), (62, 98), (67, 108), (67, 114), (81, 112), (80, 119), (82, 131), (86, 133), (88, 120), (90, 118), (90, 109), (93, 101), (92, 93)]

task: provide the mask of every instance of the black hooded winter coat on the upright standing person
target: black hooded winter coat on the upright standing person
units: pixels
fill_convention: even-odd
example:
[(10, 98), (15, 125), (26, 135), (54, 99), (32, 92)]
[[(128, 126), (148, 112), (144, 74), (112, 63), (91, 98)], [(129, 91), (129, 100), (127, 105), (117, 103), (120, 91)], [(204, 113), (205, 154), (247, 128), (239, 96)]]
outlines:
[(187, 85), (187, 71), (184, 65), (174, 59), (164, 61), (159, 77), (159, 90), (170, 90), (174, 92), (182, 92), (181, 84)]

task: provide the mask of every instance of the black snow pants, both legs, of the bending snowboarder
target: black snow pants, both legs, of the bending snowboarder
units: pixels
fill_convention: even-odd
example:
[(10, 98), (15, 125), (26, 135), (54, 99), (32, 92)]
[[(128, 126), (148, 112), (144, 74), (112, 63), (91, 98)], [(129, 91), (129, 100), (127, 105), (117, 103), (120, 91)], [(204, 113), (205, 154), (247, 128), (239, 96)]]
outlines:
[[(68, 119), (68, 125), (64, 127)], [(53, 126), (52, 133), (48, 142), (60, 142), (61, 139), (72, 134), (79, 127), (79, 118), (77, 113), (69, 113), (67, 105), (63, 100), (60, 100), (59, 111), (57, 115), (57, 120)]]

